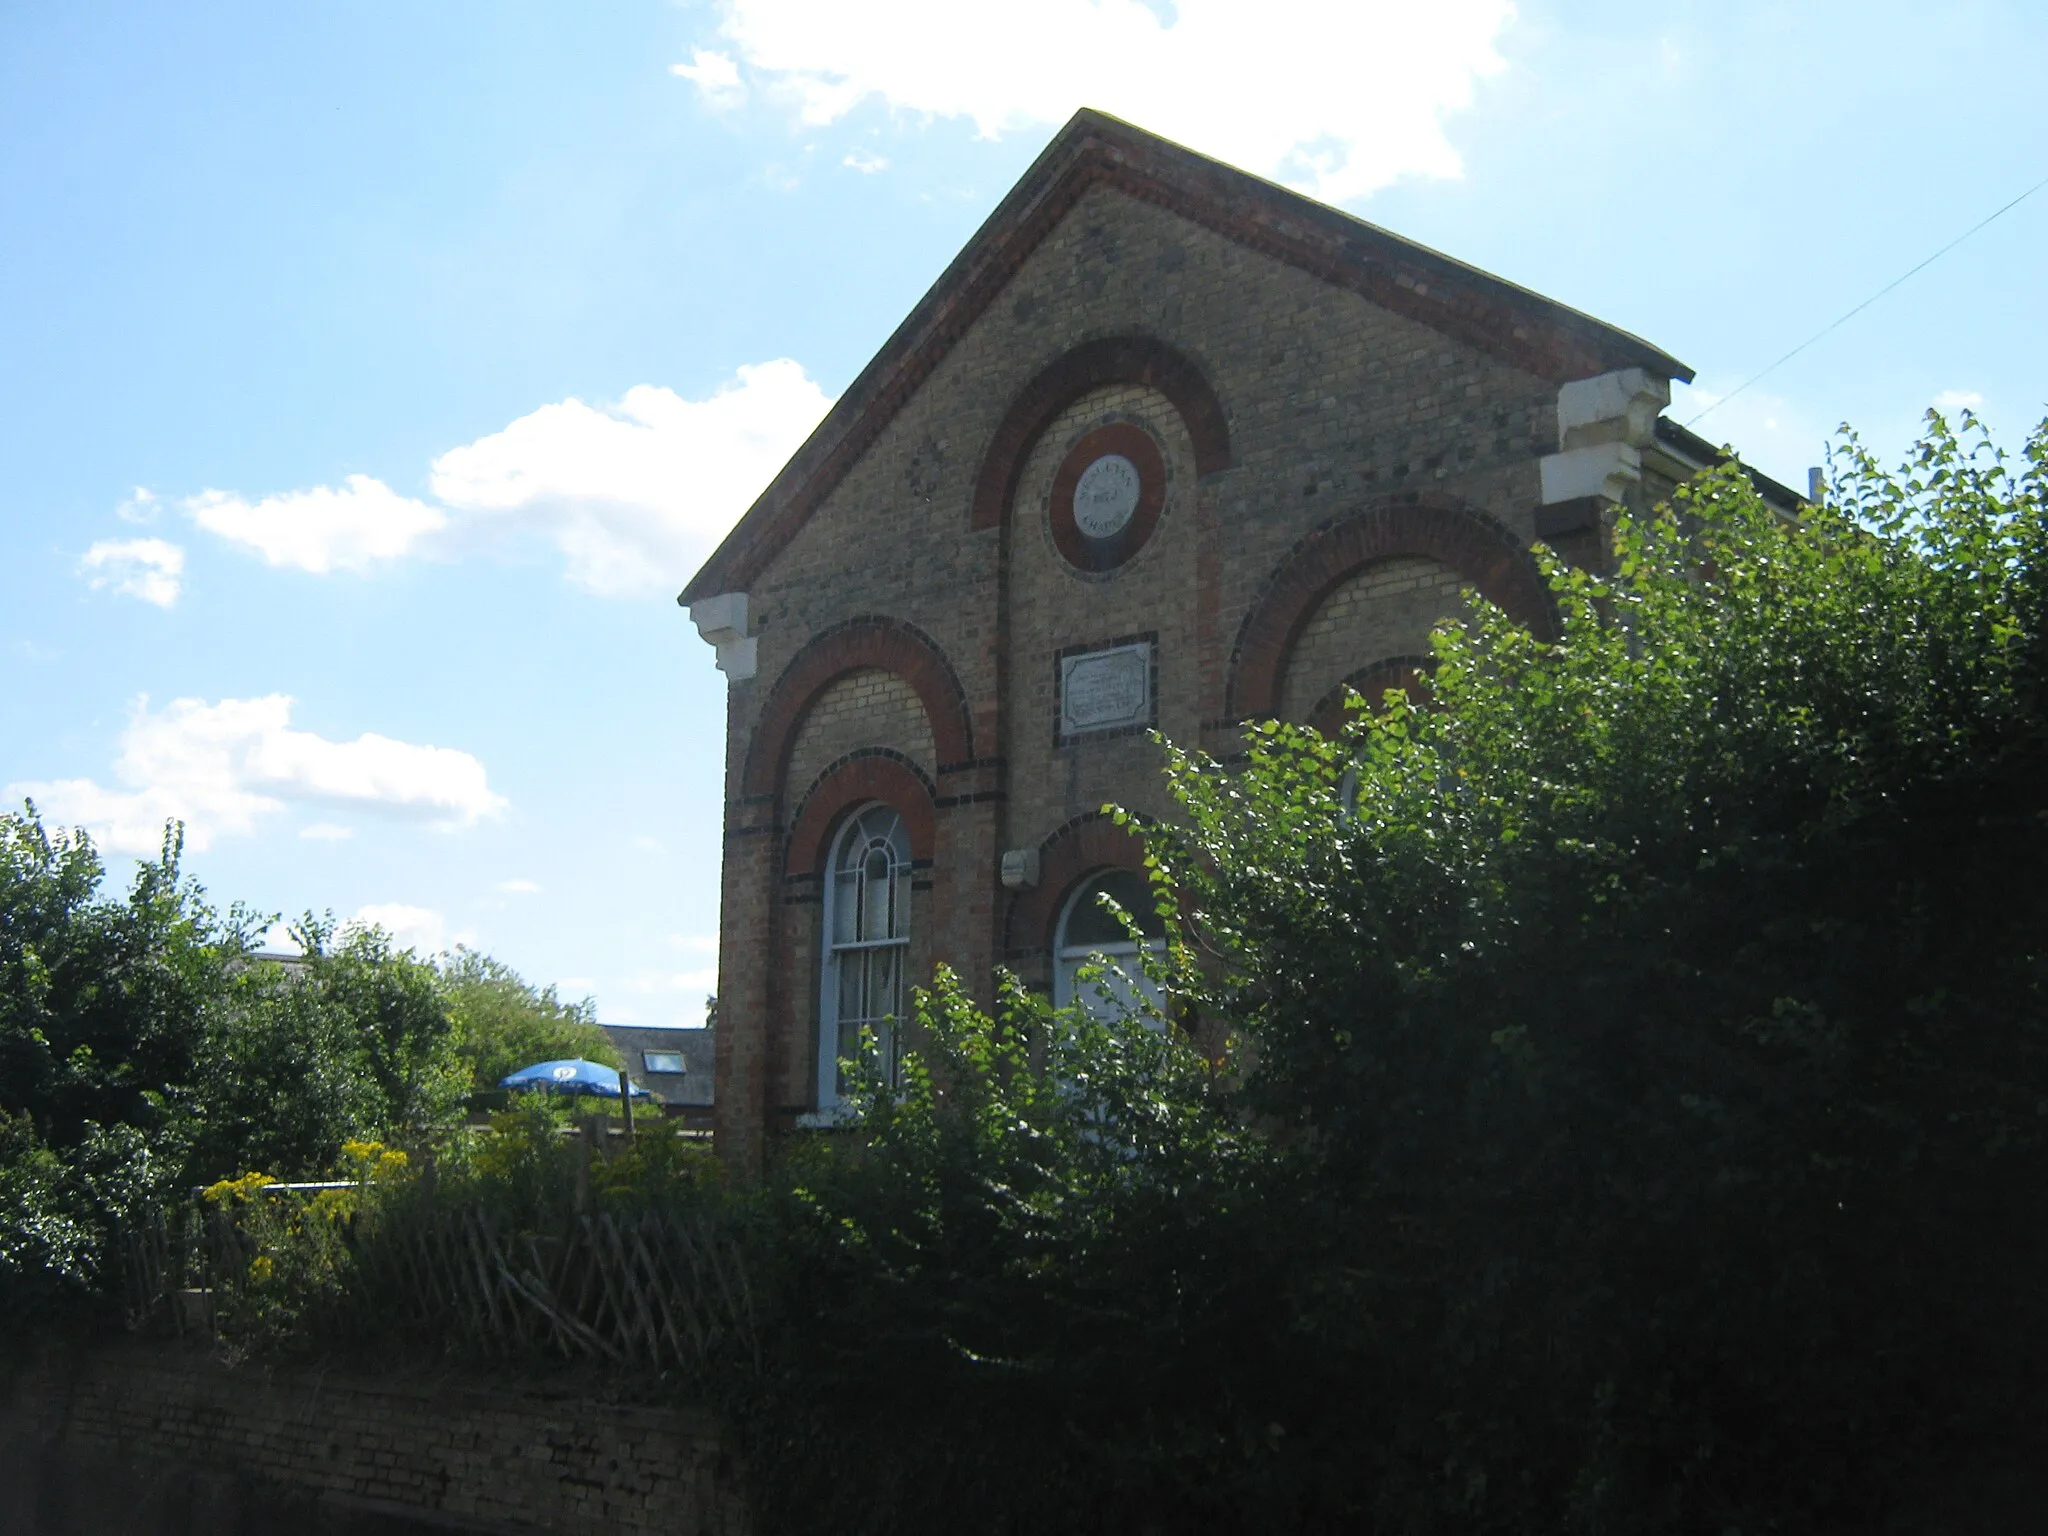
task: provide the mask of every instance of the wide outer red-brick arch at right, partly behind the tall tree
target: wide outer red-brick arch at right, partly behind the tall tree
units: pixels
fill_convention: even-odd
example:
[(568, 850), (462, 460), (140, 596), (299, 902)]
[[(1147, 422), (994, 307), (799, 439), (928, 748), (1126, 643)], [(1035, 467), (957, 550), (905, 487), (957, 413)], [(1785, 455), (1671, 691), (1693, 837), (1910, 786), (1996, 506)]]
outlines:
[(1452, 496), (1389, 498), (1311, 532), (1266, 582), (1231, 649), (1229, 719), (1278, 713), (1294, 641), (1323, 600), (1366, 565), (1405, 557), (1448, 565), (1516, 623), (1554, 633), (1550, 592), (1507, 528)]

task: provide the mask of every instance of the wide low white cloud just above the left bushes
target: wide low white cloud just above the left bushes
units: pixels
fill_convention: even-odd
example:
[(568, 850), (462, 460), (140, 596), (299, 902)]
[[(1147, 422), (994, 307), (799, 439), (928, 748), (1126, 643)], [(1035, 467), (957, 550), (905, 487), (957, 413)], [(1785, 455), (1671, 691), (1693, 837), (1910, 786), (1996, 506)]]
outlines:
[(184, 821), (186, 846), (203, 850), (217, 836), (254, 831), (287, 801), (377, 809), (442, 827), (471, 825), (506, 805), (467, 752), (377, 733), (330, 741), (293, 731), (291, 707), (289, 694), (266, 694), (217, 705), (176, 698), (152, 713), (143, 696), (115, 760), (125, 788), (59, 778), (8, 784), (6, 799), (31, 797), (53, 821), (84, 825), (102, 848), (133, 854), (156, 852), (168, 819)]

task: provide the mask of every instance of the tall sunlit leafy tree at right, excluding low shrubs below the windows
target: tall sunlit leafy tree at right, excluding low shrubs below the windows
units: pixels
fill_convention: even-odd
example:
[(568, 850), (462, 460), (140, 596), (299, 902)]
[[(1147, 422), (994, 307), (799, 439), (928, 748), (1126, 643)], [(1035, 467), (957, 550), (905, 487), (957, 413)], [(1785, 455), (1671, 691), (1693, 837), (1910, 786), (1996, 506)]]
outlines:
[(1188, 987), (1315, 1194), (1235, 1386), (1380, 1524), (1872, 1528), (2038, 1454), (2048, 424), (1835, 471), (1174, 758)]

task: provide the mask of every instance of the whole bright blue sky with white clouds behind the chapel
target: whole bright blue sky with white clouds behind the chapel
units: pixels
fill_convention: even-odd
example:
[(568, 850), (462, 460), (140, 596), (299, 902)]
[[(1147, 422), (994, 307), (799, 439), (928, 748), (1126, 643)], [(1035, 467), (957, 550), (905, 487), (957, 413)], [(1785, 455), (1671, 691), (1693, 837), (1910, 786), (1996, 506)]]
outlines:
[[(0, 10), (0, 786), (616, 1022), (713, 977), (674, 592), (1075, 106), (1626, 326), (1710, 406), (2048, 176), (2040, 4)], [(2048, 190), (1718, 408), (2048, 414)]]

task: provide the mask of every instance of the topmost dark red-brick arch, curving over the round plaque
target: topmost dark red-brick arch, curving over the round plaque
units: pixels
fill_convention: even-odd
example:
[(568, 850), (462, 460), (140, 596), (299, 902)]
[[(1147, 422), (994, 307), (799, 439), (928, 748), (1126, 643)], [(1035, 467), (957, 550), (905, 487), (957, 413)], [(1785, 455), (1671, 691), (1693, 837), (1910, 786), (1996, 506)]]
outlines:
[(981, 459), (967, 526), (1001, 526), (1038, 434), (1090, 389), (1112, 383), (1147, 385), (1174, 403), (1194, 442), (1196, 475), (1231, 467), (1231, 428), (1223, 418), (1223, 401), (1194, 360), (1151, 336), (1106, 336), (1053, 358), (1010, 401)]

